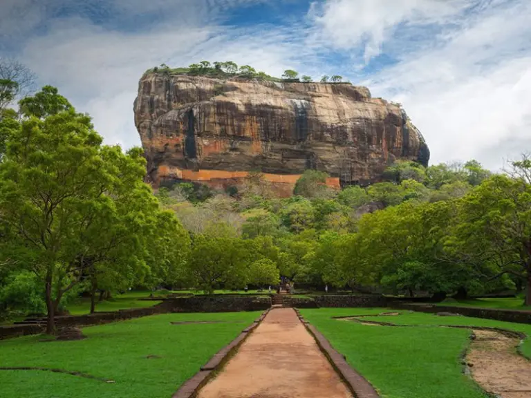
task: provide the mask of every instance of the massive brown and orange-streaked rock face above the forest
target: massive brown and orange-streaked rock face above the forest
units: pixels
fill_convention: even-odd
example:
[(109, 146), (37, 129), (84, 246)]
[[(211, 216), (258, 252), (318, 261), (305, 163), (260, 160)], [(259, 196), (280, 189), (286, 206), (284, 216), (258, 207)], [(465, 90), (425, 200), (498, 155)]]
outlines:
[(400, 106), (348, 83), (147, 73), (134, 111), (156, 187), (227, 188), (259, 171), (285, 196), (305, 169), (326, 171), (339, 187), (376, 182), (398, 159), (429, 160)]

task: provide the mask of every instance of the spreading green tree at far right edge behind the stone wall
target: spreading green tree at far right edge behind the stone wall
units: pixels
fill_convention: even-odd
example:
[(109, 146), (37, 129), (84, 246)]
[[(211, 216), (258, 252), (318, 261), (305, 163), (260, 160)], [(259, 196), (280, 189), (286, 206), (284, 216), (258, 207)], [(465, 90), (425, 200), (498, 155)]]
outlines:
[(531, 305), (531, 185), (494, 176), (460, 199), (458, 222), (447, 243), (483, 278), (511, 274), (527, 285)]

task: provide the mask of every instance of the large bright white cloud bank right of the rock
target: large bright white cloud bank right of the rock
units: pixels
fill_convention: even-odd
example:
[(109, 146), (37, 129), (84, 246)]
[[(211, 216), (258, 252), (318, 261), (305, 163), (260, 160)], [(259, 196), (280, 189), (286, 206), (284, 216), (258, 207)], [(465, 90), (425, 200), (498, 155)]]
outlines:
[(485, 10), (450, 32), (442, 48), (404, 55), (367, 83), (373, 93), (404, 104), (427, 139), (432, 163), (476, 158), (497, 169), (502, 158), (531, 149), (510, 144), (529, 142), (530, 20), (527, 2)]

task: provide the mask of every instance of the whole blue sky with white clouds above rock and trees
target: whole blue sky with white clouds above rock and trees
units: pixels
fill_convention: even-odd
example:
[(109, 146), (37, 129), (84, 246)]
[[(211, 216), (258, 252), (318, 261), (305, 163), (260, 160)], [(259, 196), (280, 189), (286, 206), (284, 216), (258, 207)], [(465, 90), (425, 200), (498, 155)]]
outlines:
[(496, 170), (531, 152), (530, 21), (530, 0), (1, 0), (0, 57), (124, 149), (145, 70), (232, 60), (342, 75), (404, 106), (430, 164)]

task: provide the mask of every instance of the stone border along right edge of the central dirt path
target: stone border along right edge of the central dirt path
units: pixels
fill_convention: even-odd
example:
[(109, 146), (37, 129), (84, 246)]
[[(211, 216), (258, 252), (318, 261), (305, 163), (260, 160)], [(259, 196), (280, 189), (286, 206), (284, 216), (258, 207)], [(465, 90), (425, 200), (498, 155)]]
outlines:
[(351, 392), (353, 392), (354, 396), (356, 398), (380, 398), (380, 395), (378, 395), (378, 392), (376, 392), (371, 383), (348, 365), (345, 357), (333, 348), (326, 337), (324, 337), (315, 326), (310, 325), (310, 323), (303, 318), (297, 308), (295, 308), (295, 312), (297, 312), (297, 316), (299, 316), (299, 319), (305, 326), (306, 330), (308, 330), (313, 336), (321, 351), (325, 354), (335, 371), (346, 383), (346, 386), (348, 386)]

